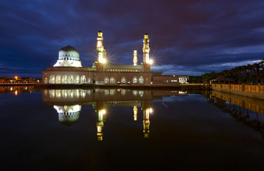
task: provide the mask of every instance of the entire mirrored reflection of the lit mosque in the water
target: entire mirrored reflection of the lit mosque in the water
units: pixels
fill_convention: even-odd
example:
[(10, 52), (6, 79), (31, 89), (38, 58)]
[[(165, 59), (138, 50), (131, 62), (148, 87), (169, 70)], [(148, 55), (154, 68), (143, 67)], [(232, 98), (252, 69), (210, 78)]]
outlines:
[(125, 89), (71, 89), (43, 90), (43, 103), (53, 105), (57, 110), (58, 120), (63, 125), (73, 125), (80, 116), (82, 105), (93, 105), (97, 113), (97, 140), (101, 141), (107, 109), (112, 107), (131, 108), (133, 119), (137, 120), (137, 112), (143, 110), (144, 138), (149, 138), (149, 115), (153, 112), (151, 101), (164, 96), (188, 95), (186, 91), (149, 91)]

